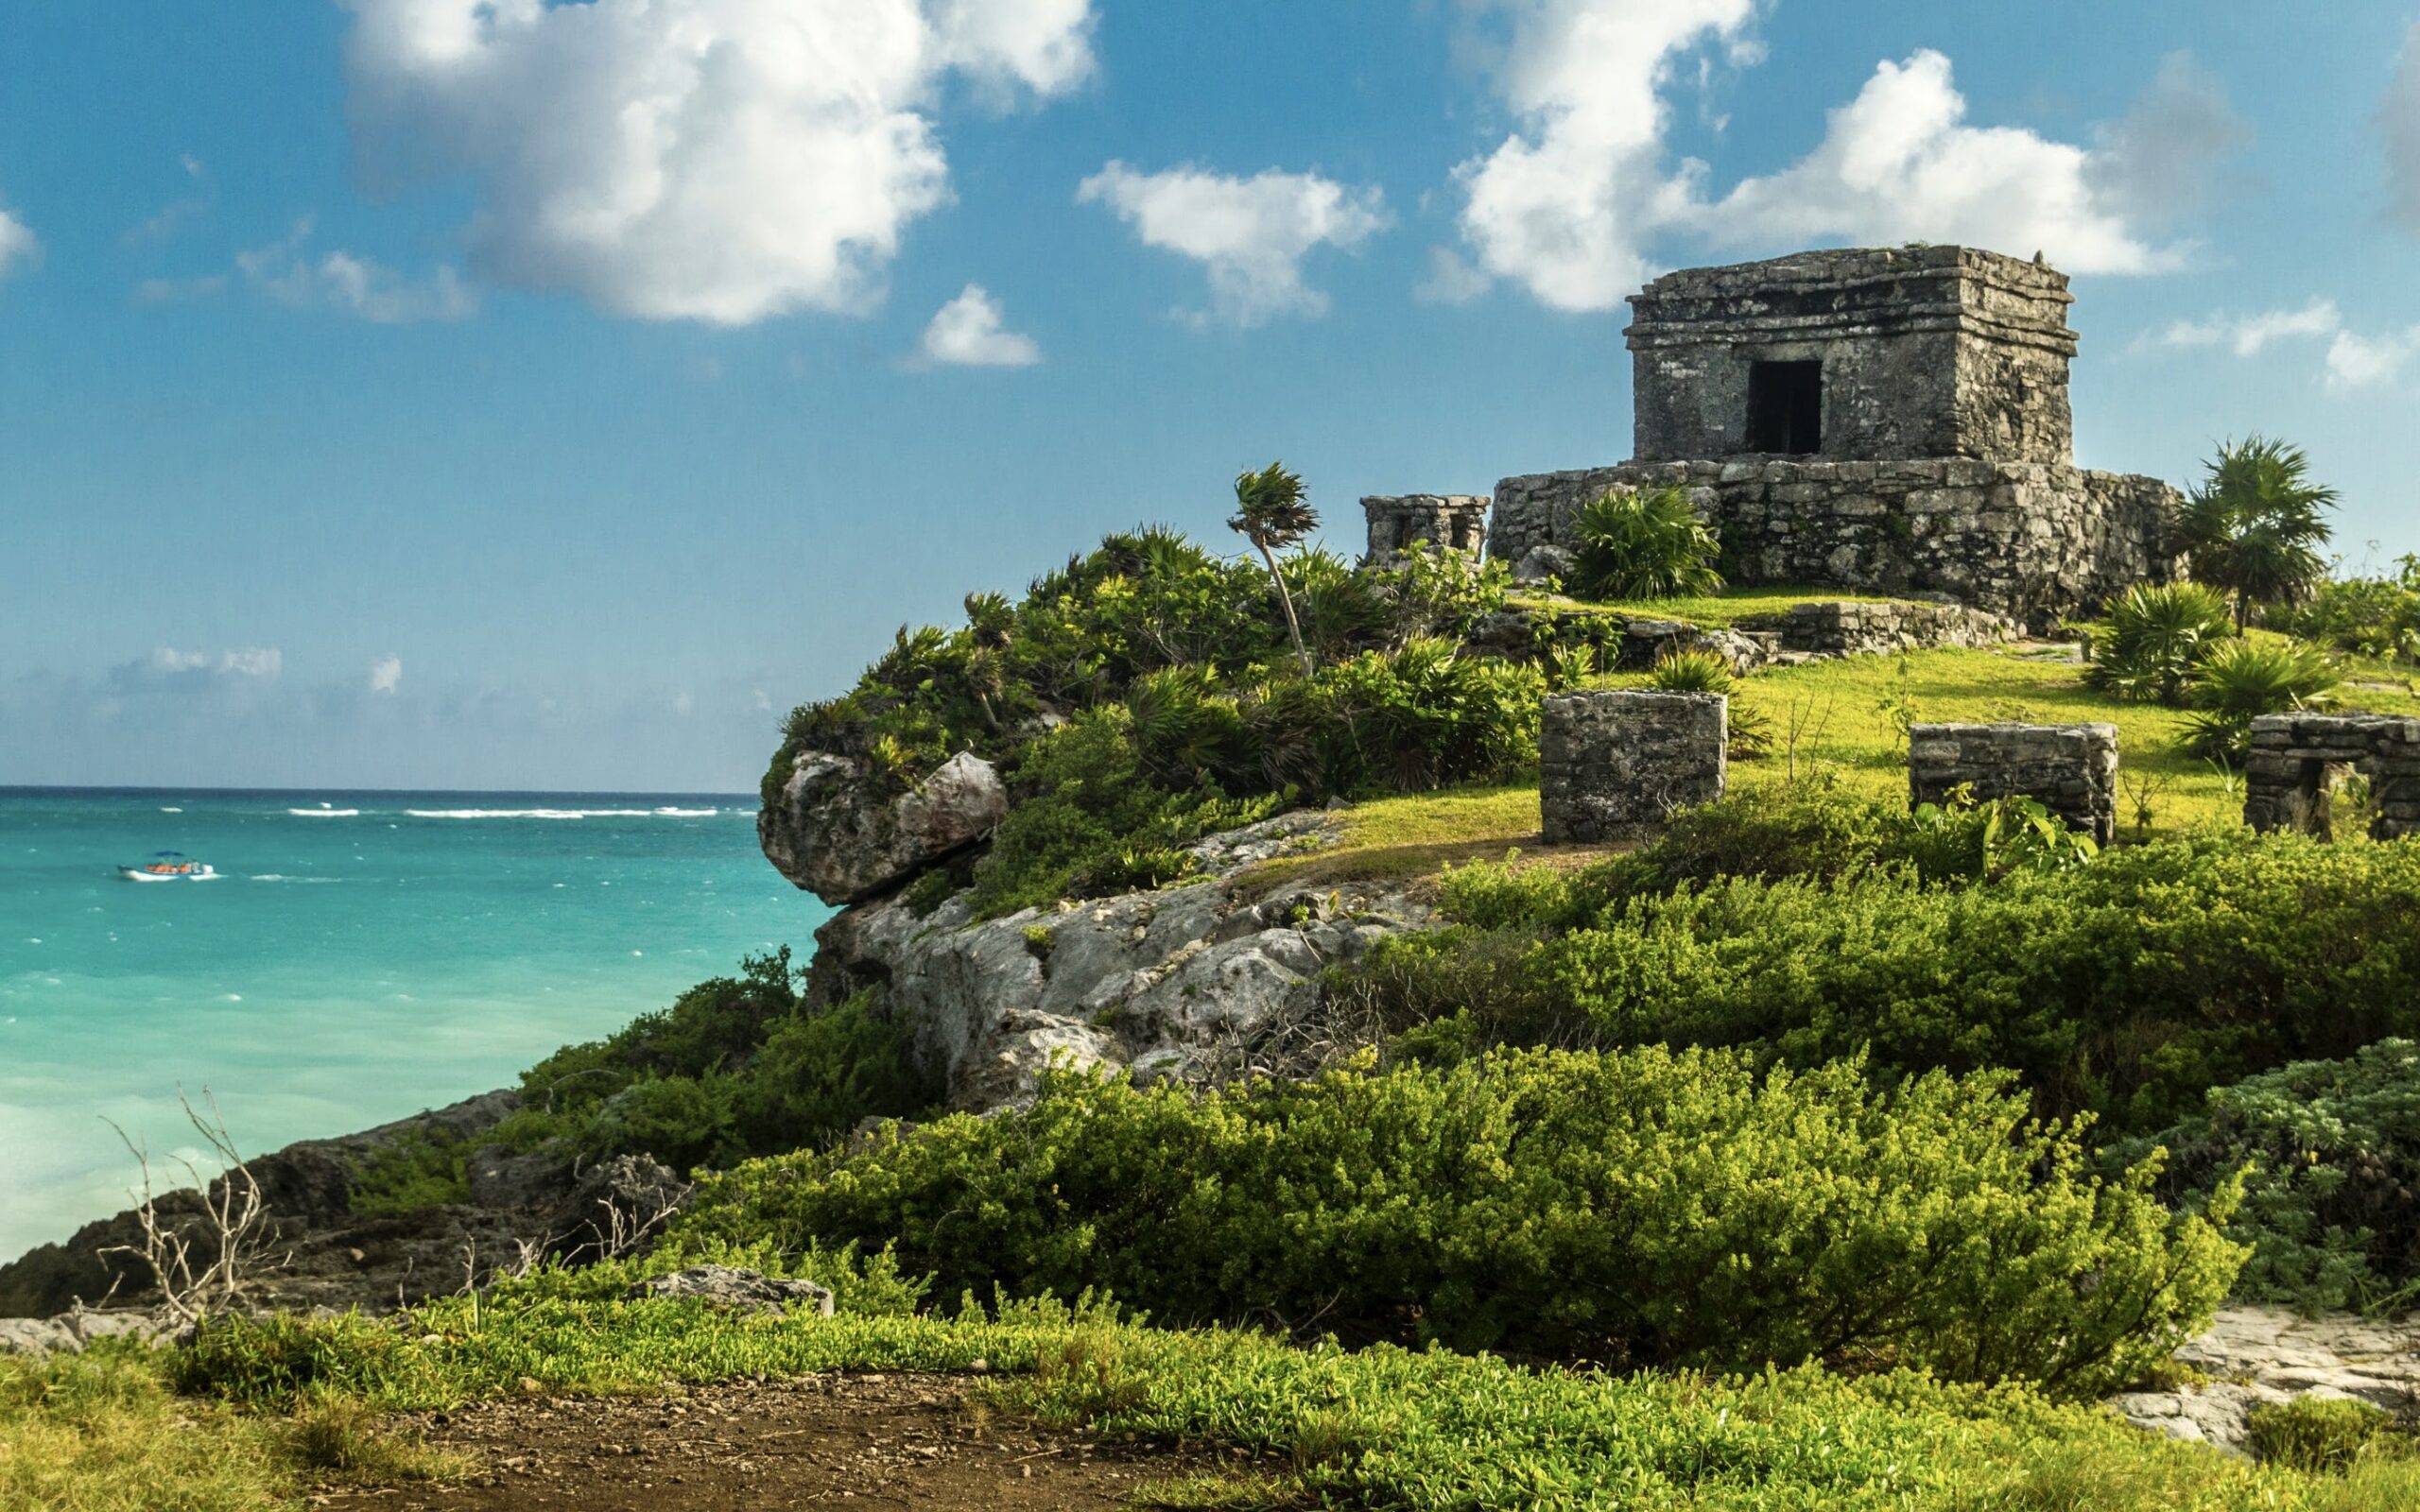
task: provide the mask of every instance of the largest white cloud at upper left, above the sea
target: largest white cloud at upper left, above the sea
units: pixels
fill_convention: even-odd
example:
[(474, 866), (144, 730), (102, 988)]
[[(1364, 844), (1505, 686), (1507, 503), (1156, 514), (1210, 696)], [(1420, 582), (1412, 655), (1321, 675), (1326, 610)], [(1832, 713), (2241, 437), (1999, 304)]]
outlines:
[(1091, 70), (1089, 0), (346, 0), (363, 167), (469, 172), (472, 269), (615, 314), (864, 310), (949, 198), (946, 75)]

